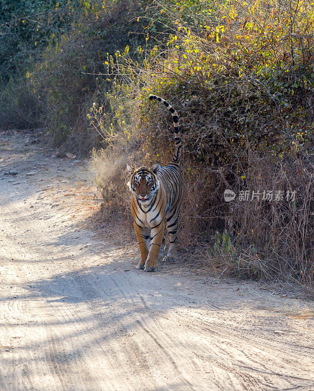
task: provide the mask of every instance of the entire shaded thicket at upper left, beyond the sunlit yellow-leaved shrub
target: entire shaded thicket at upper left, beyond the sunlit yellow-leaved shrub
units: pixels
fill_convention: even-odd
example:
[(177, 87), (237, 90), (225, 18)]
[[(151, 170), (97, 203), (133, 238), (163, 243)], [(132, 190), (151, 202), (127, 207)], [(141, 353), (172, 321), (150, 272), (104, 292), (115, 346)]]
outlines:
[[(63, 148), (86, 154), (100, 146), (98, 133), (88, 129), (86, 113), (104, 89), (111, 89), (112, 78), (101, 74), (109, 56), (126, 44), (131, 53), (146, 43), (146, 19), (137, 18), (149, 16), (147, 4), (5, 1), (0, 15), (1, 128), (13, 123), (24, 127), (32, 118), (34, 126), (45, 127)], [(20, 97), (28, 97), (30, 104), (36, 100), (36, 118), (27, 105), (16, 105)]]

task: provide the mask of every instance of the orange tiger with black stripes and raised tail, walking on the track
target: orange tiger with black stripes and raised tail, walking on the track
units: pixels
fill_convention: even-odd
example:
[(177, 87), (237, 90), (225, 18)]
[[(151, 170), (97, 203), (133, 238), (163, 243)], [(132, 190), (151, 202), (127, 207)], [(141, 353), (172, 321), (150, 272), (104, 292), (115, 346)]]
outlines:
[[(156, 272), (158, 261), (177, 259), (177, 229), (183, 198), (183, 178), (180, 172), (182, 145), (177, 112), (159, 96), (149, 95), (148, 99), (157, 99), (170, 111), (175, 139), (173, 158), (166, 167), (161, 167), (158, 163), (151, 168), (137, 169), (127, 165), (131, 175), (127, 187), (131, 192), (133, 226), (141, 252), (141, 260), (137, 268), (144, 269), (146, 272)], [(164, 258), (165, 224), (169, 249)]]

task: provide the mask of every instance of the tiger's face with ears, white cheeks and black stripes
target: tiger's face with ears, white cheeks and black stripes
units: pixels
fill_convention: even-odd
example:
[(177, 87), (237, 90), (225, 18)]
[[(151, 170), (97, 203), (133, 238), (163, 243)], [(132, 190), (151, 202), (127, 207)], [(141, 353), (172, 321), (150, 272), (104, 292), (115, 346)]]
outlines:
[(151, 169), (148, 167), (134, 169), (127, 165), (127, 169), (131, 174), (131, 178), (127, 182), (127, 187), (136, 195), (139, 202), (146, 203), (159, 189), (160, 183), (157, 178), (159, 168), (160, 165), (158, 163), (154, 164)]

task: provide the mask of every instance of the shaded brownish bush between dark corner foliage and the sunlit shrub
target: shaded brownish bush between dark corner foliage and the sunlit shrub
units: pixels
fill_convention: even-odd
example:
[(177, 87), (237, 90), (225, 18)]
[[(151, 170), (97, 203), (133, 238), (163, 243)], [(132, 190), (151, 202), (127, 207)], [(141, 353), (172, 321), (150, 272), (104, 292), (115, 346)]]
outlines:
[[(128, 44), (134, 53), (143, 36), (147, 1), (121, 0), (95, 3), (56, 43), (51, 40), (31, 72), (31, 81), (44, 102), (43, 121), (57, 145), (88, 153), (102, 138), (86, 121), (92, 102), (104, 100), (113, 78), (106, 64), (116, 50)], [(129, 32), (134, 32), (129, 35)]]

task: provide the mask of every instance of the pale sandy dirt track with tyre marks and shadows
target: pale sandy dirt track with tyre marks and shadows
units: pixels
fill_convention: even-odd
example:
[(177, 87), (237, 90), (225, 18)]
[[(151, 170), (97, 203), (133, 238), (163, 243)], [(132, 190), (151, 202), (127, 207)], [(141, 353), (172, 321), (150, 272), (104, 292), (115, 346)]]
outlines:
[(88, 164), (35, 141), (0, 135), (1, 391), (314, 390), (313, 303), (137, 270), (86, 229)]

